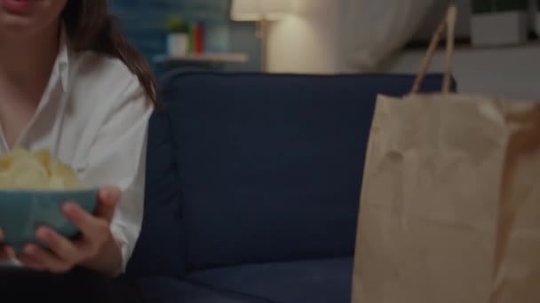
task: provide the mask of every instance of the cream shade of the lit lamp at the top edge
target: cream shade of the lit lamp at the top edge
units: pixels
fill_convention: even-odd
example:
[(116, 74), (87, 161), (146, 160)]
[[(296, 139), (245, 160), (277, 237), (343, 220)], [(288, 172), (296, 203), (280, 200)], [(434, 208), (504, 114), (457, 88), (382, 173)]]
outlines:
[(291, 11), (291, 0), (233, 0), (231, 19), (235, 21), (282, 19)]

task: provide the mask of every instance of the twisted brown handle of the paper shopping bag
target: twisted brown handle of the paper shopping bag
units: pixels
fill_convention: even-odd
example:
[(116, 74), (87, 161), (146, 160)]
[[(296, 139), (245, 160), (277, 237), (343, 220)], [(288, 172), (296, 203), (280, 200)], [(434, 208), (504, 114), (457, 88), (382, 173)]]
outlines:
[(424, 62), (420, 68), (420, 73), (417, 75), (417, 79), (412, 87), (412, 93), (416, 94), (420, 91), (420, 85), (424, 81), (425, 74), (431, 65), (433, 55), (437, 46), (441, 42), (441, 35), (444, 29), (447, 29), (446, 38), (446, 70), (444, 72), (444, 79), (442, 82), (442, 92), (449, 93), (452, 77), (452, 67), (454, 66), (454, 49), (456, 40), (456, 22), (457, 22), (457, 6), (456, 4), (450, 4), (445, 18), (442, 20), (439, 27), (433, 34), (432, 40), (429, 44), (427, 52), (425, 54)]

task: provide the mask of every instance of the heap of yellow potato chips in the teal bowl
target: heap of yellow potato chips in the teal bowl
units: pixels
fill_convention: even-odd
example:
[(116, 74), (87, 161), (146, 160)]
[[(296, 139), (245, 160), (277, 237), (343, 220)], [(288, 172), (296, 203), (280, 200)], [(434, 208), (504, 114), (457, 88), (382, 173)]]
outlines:
[(54, 159), (49, 150), (15, 149), (0, 157), (0, 189), (68, 190), (83, 188), (71, 167)]

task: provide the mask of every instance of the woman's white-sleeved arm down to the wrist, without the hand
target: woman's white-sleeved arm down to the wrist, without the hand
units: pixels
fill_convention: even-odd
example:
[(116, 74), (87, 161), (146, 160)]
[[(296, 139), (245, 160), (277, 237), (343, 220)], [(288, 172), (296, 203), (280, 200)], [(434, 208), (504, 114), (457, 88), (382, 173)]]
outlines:
[(81, 174), (84, 182), (114, 185), (120, 192), (110, 192), (110, 187), (101, 192), (104, 195), (99, 197), (100, 202), (115, 205), (110, 223), (112, 237), (95, 258), (83, 263), (87, 268), (115, 275), (125, 270), (131, 257), (144, 211), (147, 126), (153, 110), (139, 81), (133, 77), (123, 97), (111, 106), (88, 151), (86, 169)]

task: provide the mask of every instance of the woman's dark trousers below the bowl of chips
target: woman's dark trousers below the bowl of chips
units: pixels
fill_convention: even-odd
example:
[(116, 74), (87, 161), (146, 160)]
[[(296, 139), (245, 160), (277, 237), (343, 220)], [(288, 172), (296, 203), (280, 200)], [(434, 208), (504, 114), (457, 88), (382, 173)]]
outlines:
[(0, 302), (141, 303), (139, 288), (125, 277), (107, 278), (77, 268), (64, 275), (0, 268)]

